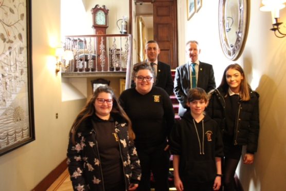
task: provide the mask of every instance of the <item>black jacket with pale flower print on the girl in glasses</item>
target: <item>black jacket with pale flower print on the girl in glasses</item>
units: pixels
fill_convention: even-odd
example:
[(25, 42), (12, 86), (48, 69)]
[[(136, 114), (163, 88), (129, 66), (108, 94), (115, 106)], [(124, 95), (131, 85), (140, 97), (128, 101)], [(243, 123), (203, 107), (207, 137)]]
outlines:
[[(127, 123), (118, 118), (114, 120), (115, 132), (120, 139), (120, 155), (128, 190), (131, 183), (138, 183), (141, 178), (140, 162), (134, 144), (129, 141)], [(71, 141), (71, 134), (69, 135), (67, 164), (74, 190), (104, 191), (96, 132), (93, 128), (95, 123), (94, 117), (91, 117), (79, 126), (76, 145)]]

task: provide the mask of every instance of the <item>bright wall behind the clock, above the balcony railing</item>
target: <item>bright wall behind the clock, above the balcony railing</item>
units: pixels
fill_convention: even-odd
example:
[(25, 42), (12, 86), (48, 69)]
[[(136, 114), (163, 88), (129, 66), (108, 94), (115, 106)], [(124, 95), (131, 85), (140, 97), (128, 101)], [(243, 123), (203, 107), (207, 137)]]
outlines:
[(91, 10), (96, 5), (100, 7), (105, 5), (109, 9), (109, 27), (106, 29), (106, 34), (119, 34), (117, 20), (121, 19), (123, 15), (129, 17), (129, 0), (120, 0), (120, 3), (116, 0), (61, 0), (61, 3), (63, 6), (61, 20), (65, 25), (62, 29), (62, 37), (64, 35), (94, 34)]

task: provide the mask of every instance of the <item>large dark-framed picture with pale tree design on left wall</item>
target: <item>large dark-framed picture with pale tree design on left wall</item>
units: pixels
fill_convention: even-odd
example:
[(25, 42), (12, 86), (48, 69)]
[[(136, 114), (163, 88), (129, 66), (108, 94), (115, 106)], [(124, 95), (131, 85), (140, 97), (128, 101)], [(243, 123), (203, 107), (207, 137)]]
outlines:
[(2, 1), (1, 8), (0, 156), (35, 140), (31, 0)]

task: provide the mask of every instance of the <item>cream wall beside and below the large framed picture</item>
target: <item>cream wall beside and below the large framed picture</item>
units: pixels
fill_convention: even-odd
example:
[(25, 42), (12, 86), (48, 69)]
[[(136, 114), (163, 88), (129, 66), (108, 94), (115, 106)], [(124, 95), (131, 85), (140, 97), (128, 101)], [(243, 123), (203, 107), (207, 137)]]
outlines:
[(86, 101), (61, 101), (52, 56), (60, 42), (60, 1), (31, 2), (35, 141), (0, 157), (1, 190), (31, 190), (66, 158), (69, 128)]

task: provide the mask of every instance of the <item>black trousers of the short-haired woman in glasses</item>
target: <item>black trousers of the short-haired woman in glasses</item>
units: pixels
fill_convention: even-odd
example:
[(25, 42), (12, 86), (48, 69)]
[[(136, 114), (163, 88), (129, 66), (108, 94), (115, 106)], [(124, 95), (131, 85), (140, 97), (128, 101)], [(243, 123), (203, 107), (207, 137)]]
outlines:
[(153, 173), (156, 191), (169, 190), (168, 175), (170, 153), (164, 148), (157, 149), (138, 149), (137, 153), (141, 165), (141, 180), (137, 191), (147, 191), (151, 189), (150, 175)]

